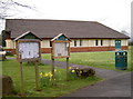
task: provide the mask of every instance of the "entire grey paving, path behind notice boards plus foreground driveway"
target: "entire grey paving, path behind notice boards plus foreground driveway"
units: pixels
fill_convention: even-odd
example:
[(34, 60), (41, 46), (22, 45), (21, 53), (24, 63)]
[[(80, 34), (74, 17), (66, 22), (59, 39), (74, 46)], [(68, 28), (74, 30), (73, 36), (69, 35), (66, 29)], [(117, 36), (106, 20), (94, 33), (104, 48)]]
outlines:
[[(42, 62), (51, 65), (51, 60), (43, 59)], [(65, 62), (55, 61), (54, 66), (65, 68)], [(72, 66), (89, 67), (70, 63), (70, 67)], [(93, 68), (96, 71), (98, 77), (102, 77), (106, 80), (94, 86), (75, 90), (74, 92), (64, 95), (58, 99), (63, 99), (64, 97), (131, 97), (131, 72), (113, 71), (94, 67), (89, 68)]]

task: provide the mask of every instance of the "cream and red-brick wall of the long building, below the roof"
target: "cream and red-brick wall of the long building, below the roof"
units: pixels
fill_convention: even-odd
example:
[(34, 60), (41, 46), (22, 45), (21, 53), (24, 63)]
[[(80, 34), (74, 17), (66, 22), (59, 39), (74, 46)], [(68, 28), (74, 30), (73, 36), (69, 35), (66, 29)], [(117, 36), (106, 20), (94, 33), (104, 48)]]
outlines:
[[(74, 40), (76, 41), (76, 47), (74, 47)], [(96, 46), (98, 40), (98, 46)], [(102, 40), (102, 42), (101, 42)], [(12, 40), (6, 40), (7, 49), (14, 49), (16, 44)], [(121, 39), (122, 50), (127, 50), (127, 39)], [(70, 43), (71, 52), (88, 52), (88, 51), (112, 51), (115, 50), (115, 39), (72, 39)], [(44, 39), (41, 41), (41, 52), (50, 53), (50, 39)]]

